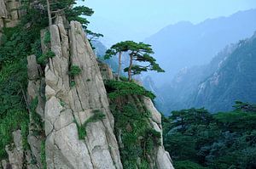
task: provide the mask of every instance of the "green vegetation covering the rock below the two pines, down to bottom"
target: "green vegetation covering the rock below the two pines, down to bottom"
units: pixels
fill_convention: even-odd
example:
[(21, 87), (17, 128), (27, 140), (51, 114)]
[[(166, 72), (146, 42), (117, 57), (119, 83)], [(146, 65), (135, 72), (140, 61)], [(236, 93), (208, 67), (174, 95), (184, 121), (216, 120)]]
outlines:
[(154, 147), (160, 144), (160, 132), (150, 126), (150, 113), (140, 97), (154, 98), (134, 82), (106, 81), (115, 121), (115, 135), (120, 136), (119, 151), (124, 168), (150, 168)]

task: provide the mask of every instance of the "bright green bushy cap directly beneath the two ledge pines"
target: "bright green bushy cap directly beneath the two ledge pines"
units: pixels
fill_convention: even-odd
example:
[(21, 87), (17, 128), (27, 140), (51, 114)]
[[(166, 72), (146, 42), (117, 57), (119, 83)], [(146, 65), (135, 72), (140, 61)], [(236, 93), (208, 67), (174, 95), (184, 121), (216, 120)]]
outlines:
[(117, 99), (128, 95), (146, 96), (154, 99), (154, 93), (147, 91), (144, 87), (137, 85), (135, 82), (106, 81), (105, 87), (110, 99)]

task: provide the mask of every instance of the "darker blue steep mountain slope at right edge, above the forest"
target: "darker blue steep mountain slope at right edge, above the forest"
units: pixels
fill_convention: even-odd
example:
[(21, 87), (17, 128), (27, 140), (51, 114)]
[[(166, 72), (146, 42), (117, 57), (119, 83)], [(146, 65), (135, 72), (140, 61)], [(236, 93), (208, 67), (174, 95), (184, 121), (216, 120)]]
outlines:
[(241, 41), (212, 76), (199, 84), (189, 106), (230, 110), (234, 100), (256, 103), (256, 34)]

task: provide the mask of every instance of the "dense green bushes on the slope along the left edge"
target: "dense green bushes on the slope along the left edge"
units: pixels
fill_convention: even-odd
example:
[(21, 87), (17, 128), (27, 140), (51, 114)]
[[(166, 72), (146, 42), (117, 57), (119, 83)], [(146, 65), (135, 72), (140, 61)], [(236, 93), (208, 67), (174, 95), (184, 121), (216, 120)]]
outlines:
[(32, 54), (32, 44), (39, 37), (36, 24), (33, 28), (19, 25), (3, 30), (0, 46), (0, 159), (6, 157), (4, 147), (12, 143), (15, 130), (21, 129), (22, 144), (28, 149), (29, 117), (23, 95), (27, 85), (26, 56)]

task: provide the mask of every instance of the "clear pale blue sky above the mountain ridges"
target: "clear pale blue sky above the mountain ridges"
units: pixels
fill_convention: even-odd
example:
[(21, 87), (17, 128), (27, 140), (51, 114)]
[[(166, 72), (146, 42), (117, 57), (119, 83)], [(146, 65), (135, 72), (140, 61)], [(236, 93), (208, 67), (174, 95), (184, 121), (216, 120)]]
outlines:
[(143, 41), (166, 25), (194, 24), (256, 8), (256, 0), (85, 0), (95, 14), (90, 30), (105, 35), (106, 45), (120, 40)]

